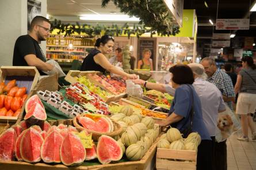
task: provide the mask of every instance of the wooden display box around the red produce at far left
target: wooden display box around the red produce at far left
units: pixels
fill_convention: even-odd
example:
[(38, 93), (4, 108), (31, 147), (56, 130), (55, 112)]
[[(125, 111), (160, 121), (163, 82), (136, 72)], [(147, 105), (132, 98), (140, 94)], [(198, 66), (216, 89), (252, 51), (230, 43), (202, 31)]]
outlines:
[[(10, 80), (16, 79), (16, 84), (18, 87), (26, 87), (26, 94), (28, 94), (29, 98), (30, 91), (36, 86), (39, 77), (40, 74), (36, 67), (2, 66), (0, 82), (5, 82), (5, 84), (7, 84)], [(24, 108), (25, 105), (23, 105), (21, 113), (23, 113)], [(0, 122), (15, 123), (17, 119), (21, 117), (22, 114), (18, 115), (18, 117), (0, 116)]]

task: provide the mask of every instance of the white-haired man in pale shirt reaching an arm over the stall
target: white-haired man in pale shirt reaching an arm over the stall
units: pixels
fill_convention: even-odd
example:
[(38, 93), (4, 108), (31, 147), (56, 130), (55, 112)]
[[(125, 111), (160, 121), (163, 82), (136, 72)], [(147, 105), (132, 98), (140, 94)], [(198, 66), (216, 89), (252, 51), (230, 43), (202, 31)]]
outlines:
[[(212, 83), (203, 79), (204, 67), (201, 64), (191, 63), (188, 66), (194, 73), (194, 90), (201, 101), (202, 119), (207, 127), (207, 130), (212, 138), (212, 163), (215, 165), (215, 132), (217, 127), (218, 113), (226, 110), (225, 102), (219, 89)], [(168, 92), (170, 95), (175, 94), (175, 90), (170, 84), (150, 83), (144, 80), (133, 80), (134, 83), (144, 85), (147, 88)], [(215, 169), (215, 168), (213, 168)]]

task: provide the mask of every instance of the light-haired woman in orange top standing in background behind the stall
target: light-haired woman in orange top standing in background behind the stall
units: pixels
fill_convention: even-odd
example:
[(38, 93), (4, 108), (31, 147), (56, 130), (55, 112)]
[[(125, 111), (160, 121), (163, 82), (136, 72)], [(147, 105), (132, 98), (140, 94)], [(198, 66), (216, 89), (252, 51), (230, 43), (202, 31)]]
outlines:
[(137, 63), (137, 69), (149, 69), (150, 71), (153, 70), (153, 61), (150, 58), (151, 51), (150, 49), (144, 49), (142, 53), (142, 60), (139, 60)]

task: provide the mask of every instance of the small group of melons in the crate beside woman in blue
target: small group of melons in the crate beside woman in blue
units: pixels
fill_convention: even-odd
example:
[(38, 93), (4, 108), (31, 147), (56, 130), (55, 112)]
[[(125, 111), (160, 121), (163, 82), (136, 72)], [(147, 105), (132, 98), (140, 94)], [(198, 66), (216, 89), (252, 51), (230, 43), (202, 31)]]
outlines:
[(197, 150), (201, 137), (198, 133), (192, 132), (187, 138), (182, 138), (178, 129), (171, 127), (167, 133), (162, 134), (158, 141), (158, 148), (174, 150)]

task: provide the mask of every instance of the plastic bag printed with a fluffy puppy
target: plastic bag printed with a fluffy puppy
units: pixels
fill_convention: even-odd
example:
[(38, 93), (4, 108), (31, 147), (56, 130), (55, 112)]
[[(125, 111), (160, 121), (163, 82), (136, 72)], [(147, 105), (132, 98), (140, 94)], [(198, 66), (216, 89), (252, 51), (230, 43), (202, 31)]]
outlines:
[(219, 113), (217, 119), (216, 141), (222, 142), (227, 140), (231, 134), (237, 132), (239, 129), (240, 123), (238, 119), (236, 119), (235, 114), (226, 104), (226, 111)]

